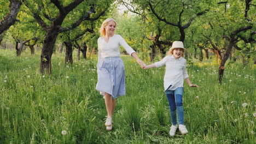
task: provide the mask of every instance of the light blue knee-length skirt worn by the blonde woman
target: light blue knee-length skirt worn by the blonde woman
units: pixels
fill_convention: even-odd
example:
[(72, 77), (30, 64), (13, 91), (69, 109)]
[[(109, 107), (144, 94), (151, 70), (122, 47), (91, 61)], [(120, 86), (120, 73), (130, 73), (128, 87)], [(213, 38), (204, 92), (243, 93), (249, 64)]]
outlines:
[(115, 99), (125, 95), (125, 68), (120, 57), (102, 58), (97, 63), (98, 82), (96, 90), (108, 93)]

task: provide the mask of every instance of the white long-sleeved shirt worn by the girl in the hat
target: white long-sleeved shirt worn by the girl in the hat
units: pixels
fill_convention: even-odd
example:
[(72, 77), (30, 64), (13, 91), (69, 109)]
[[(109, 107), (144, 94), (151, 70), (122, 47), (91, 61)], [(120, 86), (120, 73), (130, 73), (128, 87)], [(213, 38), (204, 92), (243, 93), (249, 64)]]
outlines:
[[(188, 71), (186, 68), (187, 61), (183, 57), (175, 59), (173, 55), (168, 55), (164, 57), (161, 61), (155, 62), (155, 67), (165, 67), (165, 77), (164, 77), (164, 88), (166, 90), (174, 91), (178, 87), (183, 87), (184, 79), (187, 79)], [(172, 85), (170, 87), (170, 85)]]

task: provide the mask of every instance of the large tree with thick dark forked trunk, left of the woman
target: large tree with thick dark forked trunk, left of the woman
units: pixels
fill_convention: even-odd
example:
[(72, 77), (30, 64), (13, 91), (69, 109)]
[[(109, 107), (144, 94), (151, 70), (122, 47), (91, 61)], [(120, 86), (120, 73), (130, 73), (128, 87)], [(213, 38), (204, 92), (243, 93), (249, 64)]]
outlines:
[(68, 32), (85, 20), (95, 21), (99, 19), (111, 2), (110, 0), (89, 2), (84, 2), (84, 0), (72, 2), (27, 0), (25, 2), (34, 19), (46, 31), (40, 59), (40, 72), (42, 74), (51, 73), (51, 56), (59, 33)]

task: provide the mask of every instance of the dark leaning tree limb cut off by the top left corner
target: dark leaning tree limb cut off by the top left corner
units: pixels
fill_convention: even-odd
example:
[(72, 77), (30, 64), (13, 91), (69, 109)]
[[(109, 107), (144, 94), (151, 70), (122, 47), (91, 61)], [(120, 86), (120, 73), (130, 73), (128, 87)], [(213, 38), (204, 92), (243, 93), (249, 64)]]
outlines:
[(10, 26), (14, 25), (17, 14), (19, 13), (21, 1), (20, 0), (9, 0), (9, 13), (0, 21), (0, 34), (6, 31)]

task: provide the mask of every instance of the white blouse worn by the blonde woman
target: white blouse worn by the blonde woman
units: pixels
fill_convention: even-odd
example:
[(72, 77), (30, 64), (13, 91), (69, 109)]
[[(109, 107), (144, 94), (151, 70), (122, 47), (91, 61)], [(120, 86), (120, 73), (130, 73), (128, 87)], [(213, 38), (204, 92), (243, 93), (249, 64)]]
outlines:
[(98, 38), (98, 59), (120, 56), (120, 45), (130, 55), (135, 52), (119, 34), (114, 34), (113, 37), (110, 37), (108, 43), (103, 38)]

